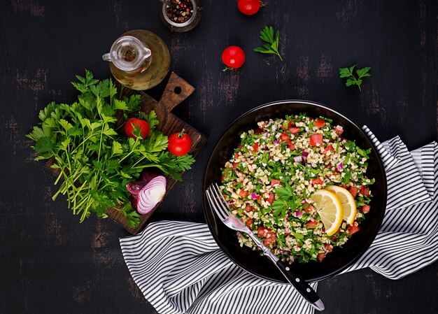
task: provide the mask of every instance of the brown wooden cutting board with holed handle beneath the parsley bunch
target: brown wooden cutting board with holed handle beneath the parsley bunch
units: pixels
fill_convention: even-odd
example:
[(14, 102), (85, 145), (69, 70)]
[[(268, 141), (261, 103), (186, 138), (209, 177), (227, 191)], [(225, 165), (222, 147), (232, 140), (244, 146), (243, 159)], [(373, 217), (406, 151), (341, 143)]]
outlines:
[[(169, 136), (181, 131), (181, 129), (185, 129), (186, 133), (189, 134), (190, 138), (192, 139), (192, 150), (190, 150), (190, 154), (195, 157), (198, 155), (202, 146), (204, 146), (206, 143), (207, 138), (199, 133), (199, 131), (197, 131), (194, 127), (191, 127), (190, 124), (184, 122), (179, 117), (176, 117), (176, 115), (171, 113), (172, 109), (178, 106), (178, 104), (181, 104), (181, 102), (189, 97), (193, 92), (195, 92), (195, 87), (192, 87), (192, 85), (177, 76), (174, 72), (171, 73), (169, 81), (167, 82), (166, 88), (164, 89), (162, 97), (159, 101), (156, 101), (145, 92), (129, 90), (127, 88), (123, 90), (123, 94), (126, 96), (131, 94), (141, 94), (141, 110), (146, 113), (149, 113), (150, 110), (155, 110), (158, 121), (160, 121), (157, 129), (162, 131), (164, 135)], [(164, 197), (167, 196), (172, 187), (174, 187), (175, 183), (178, 182), (175, 179), (169, 178), (168, 176), (166, 176), (166, 179), (167, 190)], [(183, 181), (181, 183), (183, 183)], [(147, 215), (141, 215), (139, 227), (136, 227), (135, 229), (127, 225), (125, 215), (120, 213), (115, 208), (109, 208), (107, 214), (112, 220), (118, 224), (121, 224), (125, 229), (127, 229), (127, 231), (131, 232), (132, 234), (138, 234), (141, 230), (143, 230), (143, 227), (148, 221), (150, 215), (152, 215), (159, 206), (160, 204), (157, 204), (157, 206), (155, 206), (150, 213)]]

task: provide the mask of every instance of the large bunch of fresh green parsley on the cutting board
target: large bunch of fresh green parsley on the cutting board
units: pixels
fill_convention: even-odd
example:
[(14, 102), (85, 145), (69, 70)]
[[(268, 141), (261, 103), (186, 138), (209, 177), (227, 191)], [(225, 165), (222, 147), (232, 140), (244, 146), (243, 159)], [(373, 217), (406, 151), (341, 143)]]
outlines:
[[(190, 169), (195, 159), (167, 152), (167, 136), (157, 131), (155, 112), (140, 112), (140, 95), (120, 99), (111, 80), (96, 80), (87, 70), (85, 78), (76, 77), (78, 82), (72, 84), (80, 92), (78, 101), (48, 104), (39, 113), (41, 122), (27, 134), (36, 142), (36, 160), (54, 159), (51, 167), (60, 171), (55, 184), (63, 180), (52, 199), (65, 194), (80, 222), (92, 212), (107, 217), (106, 210), (113, 207), (136, 227), (140, 216), (130, 205), (127, 183), (148, 167), (181, 180), (181, 171)], [(138, 128), (135, 140), (118, 132), (123, 126), (118, 117), (126, 120), (133, 113), (148, 121), (147, 138), (141, 138)]]

